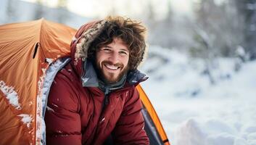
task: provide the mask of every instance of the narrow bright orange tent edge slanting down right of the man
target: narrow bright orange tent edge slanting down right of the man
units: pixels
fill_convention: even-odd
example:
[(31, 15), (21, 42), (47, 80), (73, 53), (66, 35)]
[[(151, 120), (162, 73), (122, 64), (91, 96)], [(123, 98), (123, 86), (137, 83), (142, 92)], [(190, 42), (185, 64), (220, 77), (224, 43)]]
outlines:
[(159, 117), (157, 116), (157, 112), (154, 110), (154, 107), (149, 101), (149, 98), (146, 96), (146, 93), (144, 92), (143, 88), (141, 88), (140, 85), (136, 86), (136, 88), (139, 91), (141, 101), (146, 107), (147, 112), (149, 112), (149, 115), (152, 118), (152, 121), (154, 122), (154, 125), (157, 128), (160, 137), (162, 138), (162, 141), (165, 142), (165, 145), (169, 145), (170, 143), (168, 141), (168, 137), (166, 136), (165, 130), (162, 128), (162, 124), (160, 122)]

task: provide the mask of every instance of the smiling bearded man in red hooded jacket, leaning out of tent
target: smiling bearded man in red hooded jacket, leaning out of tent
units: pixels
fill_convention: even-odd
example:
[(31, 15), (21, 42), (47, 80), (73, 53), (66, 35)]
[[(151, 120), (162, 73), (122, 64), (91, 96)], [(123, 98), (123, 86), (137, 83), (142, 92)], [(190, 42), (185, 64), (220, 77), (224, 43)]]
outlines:
[(71, 43), (71, 61), (51, 85), (46, 144), (149, 144), (135, 86), (146, 28), (123, 17), (83, 25)]

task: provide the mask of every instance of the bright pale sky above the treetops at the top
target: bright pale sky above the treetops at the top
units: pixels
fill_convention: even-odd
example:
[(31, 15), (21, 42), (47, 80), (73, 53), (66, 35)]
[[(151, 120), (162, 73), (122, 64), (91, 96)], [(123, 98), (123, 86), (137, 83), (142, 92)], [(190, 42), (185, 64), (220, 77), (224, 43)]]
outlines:
[[(35, 2), (36, 0), (23, 0)], [(56, 7), (58, 0), (42, 0), (44, 5)], [(191, 12), (191, 2), (198, 0), (67, 0), (67, 9), (85, 17), (105, 17), (112, 11), (120, 15), (143, 14), (151, 2), (157, 17), (163, 17), (167, 12), (168, 2), (173, 8), (173, 12), (179, 14), (189, 14)]]

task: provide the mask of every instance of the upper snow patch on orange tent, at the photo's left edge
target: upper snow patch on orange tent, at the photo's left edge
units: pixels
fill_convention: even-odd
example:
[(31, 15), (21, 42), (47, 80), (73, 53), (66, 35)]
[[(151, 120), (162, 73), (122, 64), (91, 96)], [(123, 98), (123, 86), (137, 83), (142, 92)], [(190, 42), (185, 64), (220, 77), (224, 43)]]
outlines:
[(9, 100), (9, 104), (12, 104), (15, 109), (21, 109), (19, 104), (19, 96), (12, 86), (7, 86), (3, 80), (0, 80), (0, 89)]

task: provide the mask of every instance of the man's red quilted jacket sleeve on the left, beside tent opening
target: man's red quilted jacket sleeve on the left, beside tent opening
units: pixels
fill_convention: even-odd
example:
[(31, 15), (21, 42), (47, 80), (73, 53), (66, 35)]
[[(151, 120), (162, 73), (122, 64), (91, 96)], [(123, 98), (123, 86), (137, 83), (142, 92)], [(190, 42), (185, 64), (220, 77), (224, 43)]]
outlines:
[(58, 74), (49, 93), (45, 122), (46, 144), (81, 144), (79, 101), (74, 86)]

